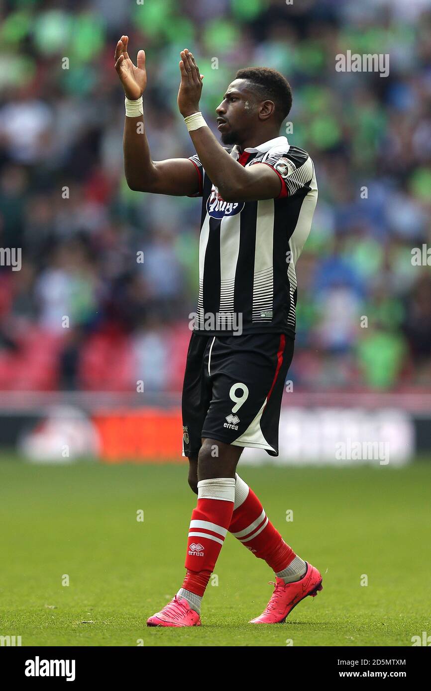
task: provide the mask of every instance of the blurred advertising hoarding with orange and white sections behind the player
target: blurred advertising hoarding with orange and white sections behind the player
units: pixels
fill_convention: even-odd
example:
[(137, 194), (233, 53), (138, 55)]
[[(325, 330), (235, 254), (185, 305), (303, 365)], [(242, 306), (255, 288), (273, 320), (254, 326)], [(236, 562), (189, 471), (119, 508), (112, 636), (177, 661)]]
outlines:
[[(179, 399), (106, 394), (0, 401), (0, 447), (35, 462), (186, 462)], [(431, 458), (431, 397), (309, 395), (282, 406), (279, 455), (246, 448), (241, 462), (397, 465)]]

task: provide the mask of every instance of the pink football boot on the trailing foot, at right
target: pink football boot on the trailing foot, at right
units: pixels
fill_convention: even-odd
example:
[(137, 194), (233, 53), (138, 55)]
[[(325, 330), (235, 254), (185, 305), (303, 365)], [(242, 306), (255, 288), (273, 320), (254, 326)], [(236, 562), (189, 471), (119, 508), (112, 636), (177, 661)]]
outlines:
[[(306, 572), (304, 578), (295, 580), (294, 583), (284, 583), (282, 578), (277, 578), (274, 583), (275, 590), (270, 598), (268, 605), (266, 605), (265, 612), (255, 619), (252, 619), (250, 624), (281, 624), (286, 621), (286, 616), (296, 607), (297, 603), (304, 600), (307, 595), (314, 598), (319, 590), (322, 590), (322, 576), (318, 569), (306, 563)], [(270, 581), (270, 583), (273, 583)]]

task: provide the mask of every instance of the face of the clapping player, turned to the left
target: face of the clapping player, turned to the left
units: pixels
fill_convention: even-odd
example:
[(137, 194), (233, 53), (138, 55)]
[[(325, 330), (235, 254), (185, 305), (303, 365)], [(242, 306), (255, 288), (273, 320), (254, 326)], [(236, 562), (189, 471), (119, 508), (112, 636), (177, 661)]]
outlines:
[(235, 79), (216, 108), (217, 129), (223, 144), (241, 144), (250, 126), (255, 124), (257, 104), (246, 84), (246, 79)]

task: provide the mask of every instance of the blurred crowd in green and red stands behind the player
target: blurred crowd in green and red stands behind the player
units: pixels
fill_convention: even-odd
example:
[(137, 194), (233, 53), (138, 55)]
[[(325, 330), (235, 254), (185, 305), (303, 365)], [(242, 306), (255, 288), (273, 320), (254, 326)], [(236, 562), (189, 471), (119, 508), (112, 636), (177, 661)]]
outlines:
[[(1, 390), (181, 389), (200, 200), (127, 187), (123, 33), (132, 59), (147, 53), (154, 160), (194, 153), (181, 49), (212, 126), (238, 68), (291, 83), (281, 133), (319, 185), (297, 266), (297, 390), (431, 389), (431, 256), (412, 262), (431, 248), (430, 0), (3, 0), (0, 19), (0, 246), (22, 249), (20, 270), (0, 267)], [(347, 50), (389, 54), (389, 76), (337, 72)]]

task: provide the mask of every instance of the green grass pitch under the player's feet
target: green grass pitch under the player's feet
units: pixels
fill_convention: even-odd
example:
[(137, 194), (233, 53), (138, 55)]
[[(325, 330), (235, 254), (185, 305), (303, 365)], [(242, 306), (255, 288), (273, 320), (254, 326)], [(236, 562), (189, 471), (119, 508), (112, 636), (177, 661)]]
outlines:
[(3, 457), (0, 634), (19, 635), (22, 645), (409, 646), (431, 633), (431, 462), (239, 472), (323, 575), (323, 590), (285, 625), (247, 623), (264, 609), (273, 574), (228, 536), (202, 627), (145, 626), (183, 579), (195, 504), (186, 466), (53, 467)]

